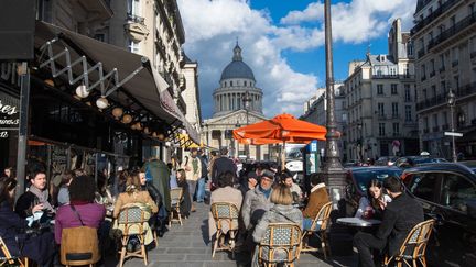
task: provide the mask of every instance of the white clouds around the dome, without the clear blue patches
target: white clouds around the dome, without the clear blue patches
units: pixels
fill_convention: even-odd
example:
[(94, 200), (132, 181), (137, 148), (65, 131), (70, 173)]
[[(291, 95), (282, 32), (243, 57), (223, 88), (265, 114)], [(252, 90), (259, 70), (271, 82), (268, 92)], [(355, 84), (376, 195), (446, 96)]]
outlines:
[[(257, 86), (263, 89), (264, 113), (302, 113), (304, 101), (314, 94), (318, 77), (294, 70), (283, 51), (322, 47), (323, 3), (291, 11), (273, 24), (269, 10), (252, 10), (246, 0), (177, 0), (185, 26), (185, 53), (198, 60), (202, 110), (213, 112), (213, 90), (224, 67), (231, 60), (236, 38), (244, 60), (253, 69)], [(277, 3), (279, 4), (279, 3)], [(391, 20), (402, 18), (409, 29), (414, 0), (353, 0), (333, 5), (333, 36), (345, 43), (361, 43), (386, 36)]]

